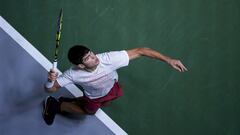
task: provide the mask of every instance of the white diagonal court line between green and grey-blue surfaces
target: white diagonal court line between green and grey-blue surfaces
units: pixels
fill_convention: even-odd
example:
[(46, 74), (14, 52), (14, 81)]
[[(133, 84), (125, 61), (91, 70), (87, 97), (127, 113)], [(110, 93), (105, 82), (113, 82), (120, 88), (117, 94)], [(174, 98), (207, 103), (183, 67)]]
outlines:
[[(31, 43), (29, 43), (20, 33), (18, 33), (6, 20), (0, 16), (0, 27), (8, 33), (25, 51), (27, 51), (41, 66), (47, 71), (52, 68), (52, 63), (43, 56)], [(62, 72), (57, 69), (59, 74)], [(83, 93), (75, 85), (67, 85), (66, 89), (70, 91), (75, 97), (82, 96)], [(97, 111), (95, 116), (102, 121), (114, 134), (127, 135), (127, 133), (121, 129), (106, 113), (101, 109)]]

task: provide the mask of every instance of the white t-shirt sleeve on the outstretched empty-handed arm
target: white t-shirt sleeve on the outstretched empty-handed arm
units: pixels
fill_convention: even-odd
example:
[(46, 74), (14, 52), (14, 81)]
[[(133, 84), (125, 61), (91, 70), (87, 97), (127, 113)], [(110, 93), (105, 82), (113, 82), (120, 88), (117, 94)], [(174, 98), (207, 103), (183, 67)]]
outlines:
[(103, 54), (103, 61), (111, 65), (113, 70), (128, 66), (129, 57), (127, 51), (112, 51)]

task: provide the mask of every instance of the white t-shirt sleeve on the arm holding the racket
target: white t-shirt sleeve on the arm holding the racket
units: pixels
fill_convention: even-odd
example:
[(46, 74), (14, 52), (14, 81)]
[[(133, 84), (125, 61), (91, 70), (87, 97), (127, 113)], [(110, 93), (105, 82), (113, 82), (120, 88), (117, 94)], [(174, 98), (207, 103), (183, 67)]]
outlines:
[(72, 84), (72, 77), (70, 74), (70, 70), (65, 71), (63, 74), (61, 74), (58, 78), (57, 78), (57, 82), (61, 87), (64, 87), (68, 84)]

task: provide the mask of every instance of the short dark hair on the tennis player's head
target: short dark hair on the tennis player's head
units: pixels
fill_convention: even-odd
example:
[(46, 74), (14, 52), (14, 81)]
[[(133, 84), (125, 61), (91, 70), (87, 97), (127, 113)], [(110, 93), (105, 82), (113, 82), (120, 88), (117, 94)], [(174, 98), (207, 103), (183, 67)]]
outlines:
[(83, 57), (90, 51), (89, 48), (83, 45), (75, 45), (68, 51), (68, 60), (75, 64), (81, 64)]

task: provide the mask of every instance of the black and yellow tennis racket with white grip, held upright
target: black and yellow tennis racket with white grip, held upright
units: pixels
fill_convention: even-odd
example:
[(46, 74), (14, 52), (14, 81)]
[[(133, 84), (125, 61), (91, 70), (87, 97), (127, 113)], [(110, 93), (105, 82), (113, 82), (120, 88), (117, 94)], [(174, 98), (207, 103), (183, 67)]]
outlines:
[(53, 70), (57, 69), (62, 22), (63, 22), (63, 9), (61, 8), (59, 16), (58, 16), (58, 20), (57, 20), (56, 46), (55, 46), (55, 54), (54, 54), (54, 60), (53, 60)]

